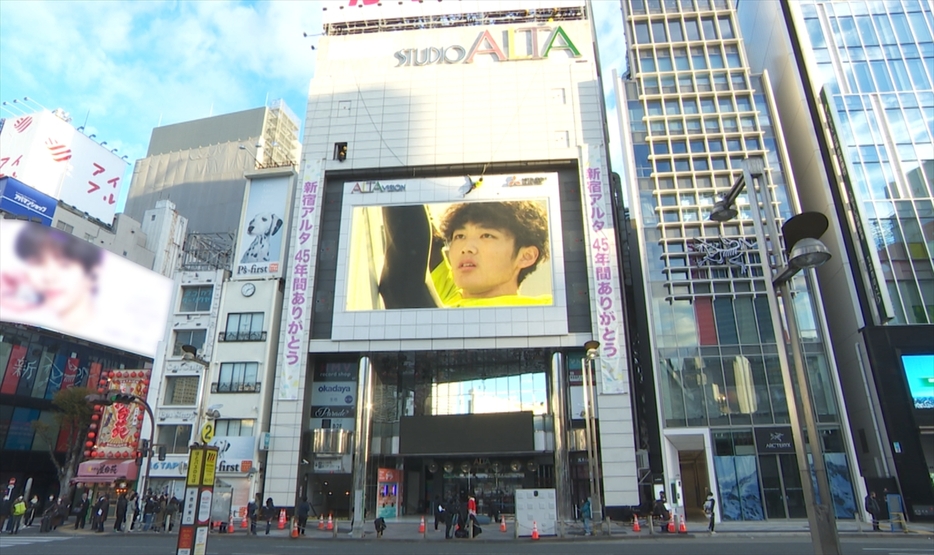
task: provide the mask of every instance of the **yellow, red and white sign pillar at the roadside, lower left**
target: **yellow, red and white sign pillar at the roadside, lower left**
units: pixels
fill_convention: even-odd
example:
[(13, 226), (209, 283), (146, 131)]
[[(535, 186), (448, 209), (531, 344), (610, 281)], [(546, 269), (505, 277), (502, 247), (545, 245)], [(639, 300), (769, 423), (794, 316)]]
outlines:
[(207, 551), (216, 466), (217, 447), (191, 448), (176, 555), (204, 555)]

